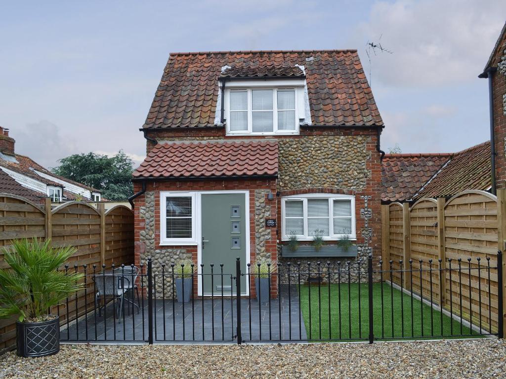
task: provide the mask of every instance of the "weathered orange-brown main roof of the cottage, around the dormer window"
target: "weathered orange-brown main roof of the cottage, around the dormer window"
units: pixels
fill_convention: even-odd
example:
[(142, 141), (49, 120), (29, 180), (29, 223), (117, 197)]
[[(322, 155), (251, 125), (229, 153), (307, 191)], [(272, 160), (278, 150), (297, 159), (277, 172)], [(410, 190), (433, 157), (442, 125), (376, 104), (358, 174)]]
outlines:
[(212, 126), (222, 68), (304, 66), (313, 125), (383, 125), (356, 50), (171, 53), (144, 128)]

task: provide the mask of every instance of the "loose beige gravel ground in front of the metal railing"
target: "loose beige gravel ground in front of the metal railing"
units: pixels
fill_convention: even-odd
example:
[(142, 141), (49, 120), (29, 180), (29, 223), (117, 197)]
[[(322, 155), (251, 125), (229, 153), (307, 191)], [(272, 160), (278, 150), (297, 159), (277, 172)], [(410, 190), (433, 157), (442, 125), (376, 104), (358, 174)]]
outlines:
[(0, 356), (0, 378), (506, 377), (506, 341), (290, 345), (63, 345)]

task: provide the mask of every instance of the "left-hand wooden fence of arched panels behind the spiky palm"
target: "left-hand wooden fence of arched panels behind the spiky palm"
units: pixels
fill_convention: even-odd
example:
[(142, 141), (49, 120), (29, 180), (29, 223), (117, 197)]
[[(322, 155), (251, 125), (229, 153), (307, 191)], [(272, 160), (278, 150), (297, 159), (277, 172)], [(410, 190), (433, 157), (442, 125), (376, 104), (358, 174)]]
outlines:
[[(53, 247), (74, 246), (77, 252), (67, 261), (68, 270), (74, 265), (87, 265), (87, 272), (102, 270), (102, 262), (110, 264), (134, 263), (134, 215), (126, 207), (115, 207), (107, 213), (84, 202), (69, 202), (51, 211), (51, 203), (33, 204), (27, 199), (0, 193), (0, 268), (7, 265), (3, 261), (3, 248), (12, 245), (20, 238), (51, 238)], [(102, 220), (105, 227), (102, 228)], [(101, 241), (105, 240), (105, 249)], [(101, 252), (103, 254), (101, 255)], [(64, 269), (64, 268), (62, 268)], [(93, 309), (93, 281), (87, 279), (86, 291), (82, 290), (69, 299), (69, 319), (75, 314), (82, 316)], [(67, 305), (52, 309), (60, 316), (61, 324), (66, 323)], [(15, 347), (16, 317), (0, 319), (0, 354)]]

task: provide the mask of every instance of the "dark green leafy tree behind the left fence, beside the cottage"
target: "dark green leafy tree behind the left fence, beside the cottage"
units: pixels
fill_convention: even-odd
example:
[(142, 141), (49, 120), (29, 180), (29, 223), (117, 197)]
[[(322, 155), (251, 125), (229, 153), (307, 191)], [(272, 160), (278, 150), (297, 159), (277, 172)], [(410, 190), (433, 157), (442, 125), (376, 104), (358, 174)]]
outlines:
[(133, 162), (122, 150), (112, 157), (95, 153), (73, 154), (53, 168), (57, 175), (100, 190), (107, 200), (126, 201), (134, 193)]

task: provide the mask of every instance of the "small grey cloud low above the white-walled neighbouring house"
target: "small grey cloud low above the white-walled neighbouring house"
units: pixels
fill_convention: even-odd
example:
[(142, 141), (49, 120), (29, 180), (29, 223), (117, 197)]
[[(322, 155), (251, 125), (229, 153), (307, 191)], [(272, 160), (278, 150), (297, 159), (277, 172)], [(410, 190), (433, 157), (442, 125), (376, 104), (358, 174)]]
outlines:
[(47, 120), (13, 129), (11, 136), (16, 139), (17, 154), (26, 155), (46, 168), (57, 166), (58, 159), (77, 151), (75, 137), (65, 134), (57, 125)]

